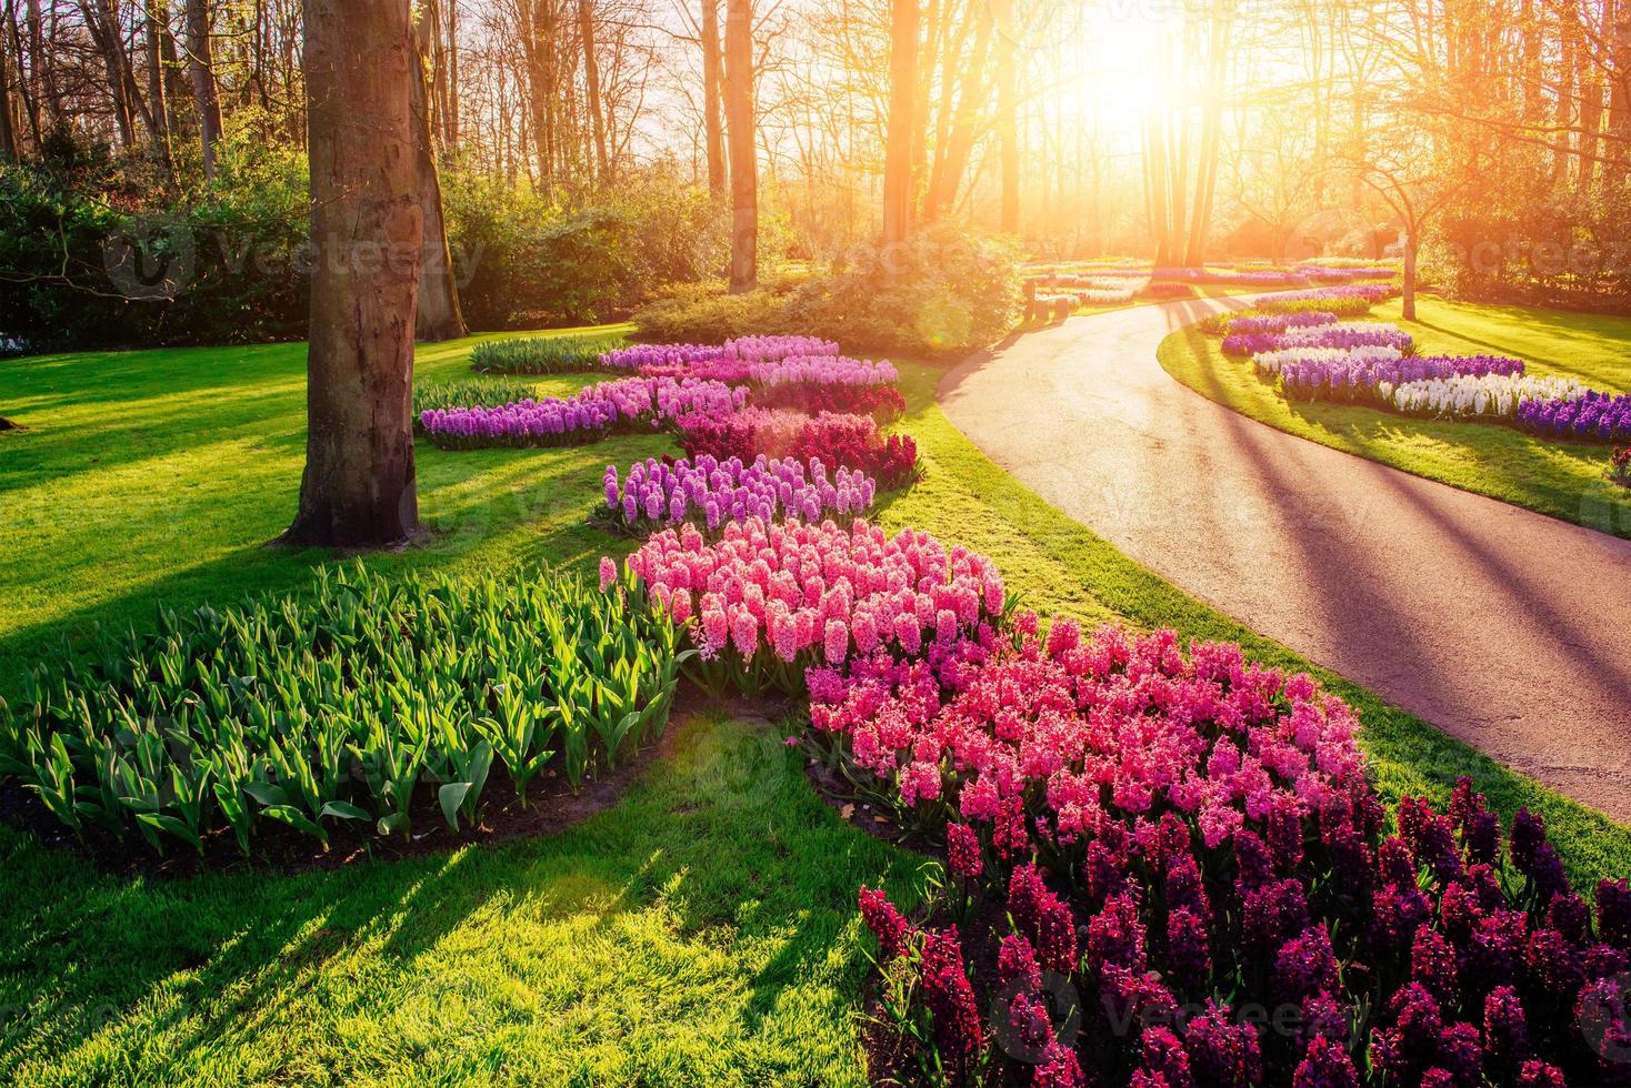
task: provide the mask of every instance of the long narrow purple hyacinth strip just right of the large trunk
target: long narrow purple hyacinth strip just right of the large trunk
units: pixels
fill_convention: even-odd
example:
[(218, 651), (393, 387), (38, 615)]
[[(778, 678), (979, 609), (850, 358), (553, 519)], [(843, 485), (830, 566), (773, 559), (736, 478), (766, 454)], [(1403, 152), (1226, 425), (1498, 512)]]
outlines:
[(597, 441), (615, 428), (672, 423), (685, 414), (729, 414), (744, 404), (747, 389), (719, 381), (618, 378), (566, 399), (427, 410), (419, 422), (444, 450), (566, 446)]

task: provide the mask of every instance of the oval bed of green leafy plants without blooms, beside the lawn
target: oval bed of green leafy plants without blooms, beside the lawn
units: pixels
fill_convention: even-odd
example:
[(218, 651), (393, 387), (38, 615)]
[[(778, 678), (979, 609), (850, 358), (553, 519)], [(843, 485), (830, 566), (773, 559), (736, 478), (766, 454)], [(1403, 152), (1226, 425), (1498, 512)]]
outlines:
[(161, 611), (155, 634), (41, 668), (23, 705), (0, 704), (0, 774), (75, 831), (134, 827), (155, 850), (230, 831), (248, 852), (266, 821), (325, 847), (338, 821), (406, 834), (416, 798), (473, 826), (489, 770), (525, 803), (545, 769), (577, 788), (664, 730), (675, 627), (630, 599), (550, 573), (359, 565), (307, 596)]

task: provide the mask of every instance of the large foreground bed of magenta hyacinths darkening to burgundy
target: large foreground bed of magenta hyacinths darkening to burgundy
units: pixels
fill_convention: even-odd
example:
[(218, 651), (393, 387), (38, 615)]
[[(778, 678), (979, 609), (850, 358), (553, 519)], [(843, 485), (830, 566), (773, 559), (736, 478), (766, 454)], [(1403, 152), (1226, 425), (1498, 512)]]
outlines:
[[(1306, 676), (1169, 634), (1034, 619), (938, 673), (812, 669), (827, 757), (946, 842), (946, 910), (879, 893), (899, 1065), (961, 1083), (1603, 1083), (1624, 1052), (1631, 889), (1569, 891), (1540, 821), (1463, 780), (1398, 834), (1357, 722)], [(979, 643), (982, 648), (985, 643)]]

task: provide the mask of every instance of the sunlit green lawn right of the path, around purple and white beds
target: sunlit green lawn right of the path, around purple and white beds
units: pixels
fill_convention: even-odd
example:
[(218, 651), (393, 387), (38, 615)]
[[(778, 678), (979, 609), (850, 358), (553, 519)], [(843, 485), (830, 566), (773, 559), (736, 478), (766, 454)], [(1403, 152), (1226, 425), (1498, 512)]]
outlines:
[[(1377, 318), (1398, 321), (1429, 355), (1517, 355), (1536, 375), (1561, 375), (1597, 389), (1631, 393), (1631, 318), (1437, 298), (1421, 300), (1417, 321), (1401, 321), (1396, 301), (1378, 306)], [(1346, 404), (1287, 402), (1258, 379), (1251, 360), (1230, 358), (1218, 347), (1217, 337), (1196, 329), (1174, 332), (1161, 344), (1161, 366), (1202, 396), (1292, 435), (1631, 537), (1631, 492), (1603, 479), (1607, 446), (1540, 438), (1491, 423), (1409, 419)]]

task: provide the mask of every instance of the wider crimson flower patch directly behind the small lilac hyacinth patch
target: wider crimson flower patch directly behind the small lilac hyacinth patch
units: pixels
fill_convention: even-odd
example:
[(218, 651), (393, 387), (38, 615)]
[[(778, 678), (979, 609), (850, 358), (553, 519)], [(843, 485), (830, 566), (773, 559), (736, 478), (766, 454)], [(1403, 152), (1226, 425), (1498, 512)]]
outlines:
[(687, 456), (719, 461), (758, 456), (856, 469), (884, 490), (904, 487), (917, 474), (917, 443), (905, 435), (879, 433), (871, 415), (750, 407), (740, 412), (692, 412), (677, 420)]

